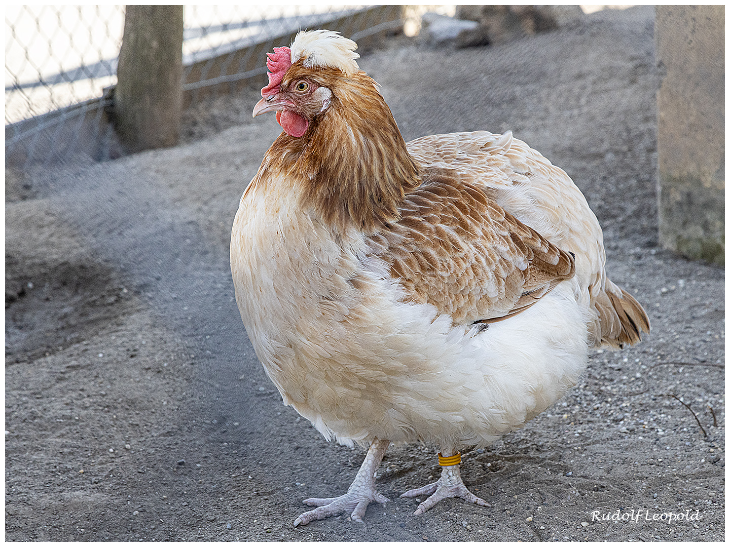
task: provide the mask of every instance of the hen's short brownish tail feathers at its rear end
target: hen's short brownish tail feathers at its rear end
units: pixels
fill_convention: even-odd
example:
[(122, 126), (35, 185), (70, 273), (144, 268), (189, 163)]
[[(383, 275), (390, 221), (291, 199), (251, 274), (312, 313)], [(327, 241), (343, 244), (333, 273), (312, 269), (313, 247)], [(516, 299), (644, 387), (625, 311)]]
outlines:
[(649, 333), (649, 318), (633, 296), (606, 281), (606, 288), (596, 298), (598, 321), (596, 325), (596, 346), (611, 346), (621, 349), (641, 340), (642, 333)]

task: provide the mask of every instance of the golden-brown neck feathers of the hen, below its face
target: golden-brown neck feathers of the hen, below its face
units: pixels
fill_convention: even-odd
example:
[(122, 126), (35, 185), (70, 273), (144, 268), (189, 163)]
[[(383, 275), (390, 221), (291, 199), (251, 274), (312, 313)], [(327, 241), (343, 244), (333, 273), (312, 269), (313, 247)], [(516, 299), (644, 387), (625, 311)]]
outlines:
[(301, 138), (283, 133), (272, 152), (303, 176), (301, 206), (340, 230), (372, 233), (399, 218), (404, 193), (421, 179), (373, 80), (331, 72), (320, 69), (317, 79), (333, 92), (332, 104)]

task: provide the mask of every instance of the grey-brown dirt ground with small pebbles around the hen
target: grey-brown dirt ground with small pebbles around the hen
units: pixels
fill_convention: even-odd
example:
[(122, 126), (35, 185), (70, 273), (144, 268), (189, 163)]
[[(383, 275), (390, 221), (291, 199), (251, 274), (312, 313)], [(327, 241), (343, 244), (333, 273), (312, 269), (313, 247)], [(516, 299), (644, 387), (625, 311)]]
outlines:
[(652, 322), (523, 430), (465, 452), (487, 508), (412, 516), (399, 494), (437, 459), (397, 446), (377, 479), (391, 501), (365, 524), (292, 526), (304, 498), (345, 492), (364, 450), (282, 405), (234, 302), (230, 225), (280, 131), (251, 119), (258, 90), (188, 111), (169, 150), (7, 172), (7, 540), (723, 540), (724, 271), (658, 248), (652, 32), (636, 7), (361, 58), (407, 140), (511, 129), (563, 167)]

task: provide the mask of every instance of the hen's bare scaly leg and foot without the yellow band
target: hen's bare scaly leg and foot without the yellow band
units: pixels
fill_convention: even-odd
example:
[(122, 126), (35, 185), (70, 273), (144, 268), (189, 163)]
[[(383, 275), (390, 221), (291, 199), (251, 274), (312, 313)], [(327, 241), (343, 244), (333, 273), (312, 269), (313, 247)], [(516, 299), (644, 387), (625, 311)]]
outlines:
[(353, 484), (347, 489), (347, 494), (340, 497), (310, 497), (304, 500), (307, 505), (316, 506), (316, 509), (301, 513), (294, 521), (294, 526), (309, 524), (311, 521), (326, 519), (328, 516), (350, 513), (353, 521), (362, 522), (365, 510), (370, 502), (385, 503), (388, 498), (375, 490), (374, 474), (385, 455), (385, 449), (391, 441), (373, 439), (367, 451), (363, 465), (360, 466)]

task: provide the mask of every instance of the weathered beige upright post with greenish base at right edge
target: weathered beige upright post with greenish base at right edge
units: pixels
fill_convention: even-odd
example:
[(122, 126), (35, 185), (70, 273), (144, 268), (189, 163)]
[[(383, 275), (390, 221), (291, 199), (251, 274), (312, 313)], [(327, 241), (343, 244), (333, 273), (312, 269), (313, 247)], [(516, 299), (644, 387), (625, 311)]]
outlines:
[(725, 263), (725, 7), (656, 7), (659, 241)]

